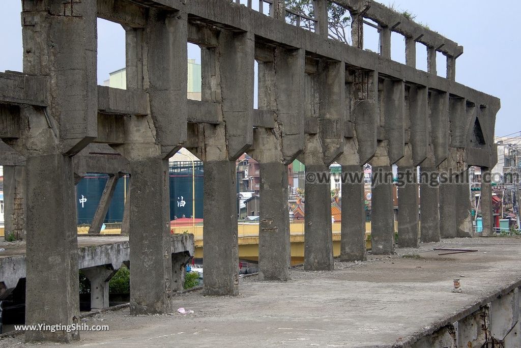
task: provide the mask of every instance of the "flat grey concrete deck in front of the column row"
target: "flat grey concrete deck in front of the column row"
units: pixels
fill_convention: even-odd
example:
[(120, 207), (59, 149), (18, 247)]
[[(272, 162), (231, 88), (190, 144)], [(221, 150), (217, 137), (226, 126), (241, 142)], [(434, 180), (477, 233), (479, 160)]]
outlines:
[[(442, 255), (435, 247), (477, 249)], [(418, 249), (398, 248), (400, 255)], [(243, 278), (236, 297), (174, 297), (190, 315), (130, 317), (128, 309), (90, 318), (108, 332), (81, 332), (73, 346), (410, 346), (521, 285), (521, 238), (451, 239), (420, 254), (374, 257), (332, 272), (292, 270), (288, 283)], [(462, 293), (452, 293), (461, 278)], [(26, 346), (21, 336), (0, 346)], [(39, 344), (39, 346), (55, 346)]]

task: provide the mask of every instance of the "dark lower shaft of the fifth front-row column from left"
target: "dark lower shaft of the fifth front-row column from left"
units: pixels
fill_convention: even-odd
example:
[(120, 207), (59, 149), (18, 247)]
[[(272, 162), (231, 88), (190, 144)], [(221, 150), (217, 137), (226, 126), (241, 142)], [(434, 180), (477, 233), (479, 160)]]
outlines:
[[(315, 181), (310, 180), (316, 173)], [(304, 269), (333, 270), (333, 234), (331, 226), (331, 192), (329, 182), (319, 182), (326, 165), (306, 165)]]

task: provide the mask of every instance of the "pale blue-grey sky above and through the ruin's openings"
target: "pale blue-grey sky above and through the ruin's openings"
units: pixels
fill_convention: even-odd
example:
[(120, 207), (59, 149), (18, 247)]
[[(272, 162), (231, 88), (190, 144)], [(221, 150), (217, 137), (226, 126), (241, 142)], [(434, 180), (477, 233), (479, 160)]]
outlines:
[[(521, 131), (516, 107), (521, 98), (517, 71), (521, 55), (517, 25), (521, 2), (505, 0), (500, 7), (492, 6), (490, 0), (391, 0), (391, 3), (399, 10), (416, 15), (416, 21), (428, 24), (430, 29), (464, 46), (464, 54), (456, 61), (456, 81), (501, 98), (495, 135)], [(0, 71), (22, 70), (20, 10), (21, 1), (2, 0)], [(403, 39), (397, 35), (392, 39), (392, 57), (403, 61)], [(367, 33), (366, 47), (376, 51), (375, 40), (376, 35)], [(189, 47), (189, 58), (199, 62), (197, 51), (196, 47)], [(426, 56), (423, 50), (418, 50), (418, 68), (426, 69)], [(109, 72), (124, 66), (125, 32), (118, 24), (98, 20), (98, 83), (103, 83)], [(438, 70), (444, 74), (441, 59)]]

